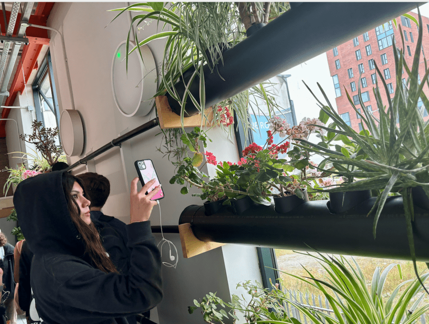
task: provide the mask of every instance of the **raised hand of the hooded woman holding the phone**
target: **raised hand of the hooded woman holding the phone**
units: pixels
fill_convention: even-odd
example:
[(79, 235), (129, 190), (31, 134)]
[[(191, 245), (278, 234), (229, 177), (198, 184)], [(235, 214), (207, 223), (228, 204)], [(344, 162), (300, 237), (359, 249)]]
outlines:
[(146, 194), (146, 191), (153, 185), (155, 179), (144, 184), (140, 191), (137, 191), (138, 177), (131, 181), (130, 190), (130, 222), (144, 222), (149, 220), (153, 206), (156, 200), (150, 200), (161, 189), (161, 185), (156, 186), (152, 191)]

